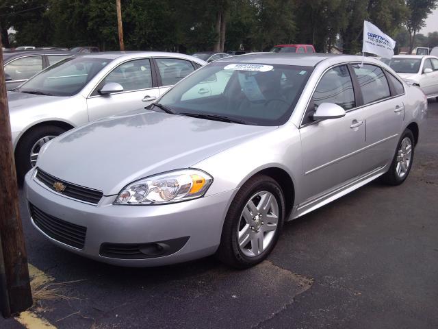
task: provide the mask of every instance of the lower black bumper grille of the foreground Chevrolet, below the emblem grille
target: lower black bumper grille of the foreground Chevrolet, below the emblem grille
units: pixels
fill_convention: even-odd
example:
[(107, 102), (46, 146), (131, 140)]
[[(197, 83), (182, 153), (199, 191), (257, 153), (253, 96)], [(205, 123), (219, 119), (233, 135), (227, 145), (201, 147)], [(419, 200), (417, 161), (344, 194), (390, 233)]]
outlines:
[(85, 243), (87, 228), (53, 217), (29, 204), (30, 214), (34, 223), (42, 232), (56, 241), (82, 249)]

